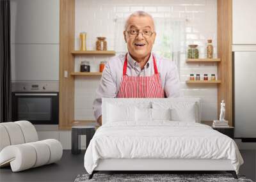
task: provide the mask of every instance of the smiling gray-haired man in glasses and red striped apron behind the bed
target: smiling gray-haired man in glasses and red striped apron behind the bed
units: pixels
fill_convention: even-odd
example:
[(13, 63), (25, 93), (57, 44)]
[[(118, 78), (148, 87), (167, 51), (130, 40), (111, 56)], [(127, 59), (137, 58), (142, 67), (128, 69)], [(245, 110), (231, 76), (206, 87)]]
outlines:
[(156, 38), (154, 20), (144, 11), (132, 13), (125, 24), (128, 53), (113, 57), (106, 64), (93, 102), (101, 125), (102, 98), (179, 97), (180, 83), (175, 64), (152, 53)]

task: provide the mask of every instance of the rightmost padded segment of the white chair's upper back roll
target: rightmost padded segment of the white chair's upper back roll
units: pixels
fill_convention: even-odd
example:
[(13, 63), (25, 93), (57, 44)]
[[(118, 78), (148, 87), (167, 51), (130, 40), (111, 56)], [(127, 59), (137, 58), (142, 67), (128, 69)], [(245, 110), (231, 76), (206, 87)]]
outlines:
[(25, 143), (36, 142), (38, 140), (36, 129), (29, 121), (15, 121), (14, 123), (17, 123), (20, 126)]

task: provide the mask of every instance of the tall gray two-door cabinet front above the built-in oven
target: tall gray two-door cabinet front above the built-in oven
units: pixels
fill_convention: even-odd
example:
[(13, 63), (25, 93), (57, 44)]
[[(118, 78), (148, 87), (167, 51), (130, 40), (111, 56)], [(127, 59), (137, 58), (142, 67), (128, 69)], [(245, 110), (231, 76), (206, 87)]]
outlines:
[(60, 0), (11, 0), (12, 81), (59, 80)]

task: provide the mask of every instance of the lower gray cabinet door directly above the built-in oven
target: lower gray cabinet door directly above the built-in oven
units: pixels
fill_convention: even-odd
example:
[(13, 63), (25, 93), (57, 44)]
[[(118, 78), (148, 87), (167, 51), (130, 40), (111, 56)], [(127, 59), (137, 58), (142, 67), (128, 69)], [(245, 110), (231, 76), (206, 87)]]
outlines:
[(12, 44), (12, 80), (58, 80), (59, 45)]

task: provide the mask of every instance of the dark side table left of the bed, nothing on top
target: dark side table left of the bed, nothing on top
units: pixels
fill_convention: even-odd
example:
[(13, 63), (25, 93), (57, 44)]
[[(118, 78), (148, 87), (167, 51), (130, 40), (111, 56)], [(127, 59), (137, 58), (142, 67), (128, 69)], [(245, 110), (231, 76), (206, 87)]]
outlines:
[(72, 126), (71, 130), (71, 153), (72, 154), (79, 154), (81, 153), (81, 142), (79, 142), (78, 137), (79, 135), (86, 135), (86, 148), (92, 140), (92, 137), (95, 133), (96, 127), (95, 126)]

